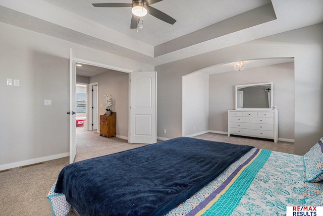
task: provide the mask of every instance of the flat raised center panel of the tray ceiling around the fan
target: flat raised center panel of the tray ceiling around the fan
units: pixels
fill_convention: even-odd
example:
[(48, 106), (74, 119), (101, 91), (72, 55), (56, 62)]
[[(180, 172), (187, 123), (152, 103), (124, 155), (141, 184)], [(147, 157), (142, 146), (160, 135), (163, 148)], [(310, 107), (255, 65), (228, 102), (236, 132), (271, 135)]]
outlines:
[[(214, 23), (266, 5), (270, 0), (164, 0), (151, 7), (173, 17), (174, 25), (147, 15), (143, 29), (130, 29), (131, 8), (95, 8), (92, 3), (131, 3), (131, 0), (44, 0), (151, 46), (170, 41)], [(192, 16), (193, 15), (193, 16)]]

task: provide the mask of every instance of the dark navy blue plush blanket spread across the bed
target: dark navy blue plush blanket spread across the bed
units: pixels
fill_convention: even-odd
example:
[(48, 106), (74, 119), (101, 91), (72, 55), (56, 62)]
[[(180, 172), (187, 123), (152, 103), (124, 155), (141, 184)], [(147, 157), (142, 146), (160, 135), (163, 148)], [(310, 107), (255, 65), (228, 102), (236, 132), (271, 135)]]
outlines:
[(163, 215), (252, 147), (179, 137), (64, 167), (56, 193), (80, 215)]

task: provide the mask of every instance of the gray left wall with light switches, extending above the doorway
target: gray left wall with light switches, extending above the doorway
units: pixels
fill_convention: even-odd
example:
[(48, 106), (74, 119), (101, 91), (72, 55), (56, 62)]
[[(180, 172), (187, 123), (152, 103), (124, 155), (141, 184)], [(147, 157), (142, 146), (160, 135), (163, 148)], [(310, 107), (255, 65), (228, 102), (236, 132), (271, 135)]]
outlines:
[[(70, 48), (80, 59), (134, 71), (154, 70), (151, 65), (8, 24), (0, 23), (0, 29), (0, 170), (69, 155)], [(7, 78), (19, 79), (20, 86), (7, 86)], [(52, 106), (44, 106), (44, 99), (52, 100)]]

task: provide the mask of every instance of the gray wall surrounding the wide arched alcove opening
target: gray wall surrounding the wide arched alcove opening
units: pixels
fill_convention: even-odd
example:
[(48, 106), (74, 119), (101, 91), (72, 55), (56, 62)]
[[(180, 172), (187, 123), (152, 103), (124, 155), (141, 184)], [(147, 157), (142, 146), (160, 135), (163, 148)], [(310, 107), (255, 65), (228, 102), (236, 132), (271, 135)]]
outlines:
[[(295, 154), (303, 155), (319, 140), (323, 131), (322, 37), (323, 24), (317, 24), (156, 66), (157, 136), (165, 136), (163, 128), (170, 131), (166, 138), (181, 136), (183, 75), (220, 63), (294, 57)], [(171, 112), (167, 112), (169, 108)]]

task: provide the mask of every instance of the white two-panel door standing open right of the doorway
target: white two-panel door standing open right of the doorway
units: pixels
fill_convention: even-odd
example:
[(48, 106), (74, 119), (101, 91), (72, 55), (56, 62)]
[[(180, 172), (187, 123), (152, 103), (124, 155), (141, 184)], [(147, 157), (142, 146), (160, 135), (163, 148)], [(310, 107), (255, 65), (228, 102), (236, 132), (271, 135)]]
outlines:
[(156, 72), (130, 73), (129, 142), (156, 142)]

